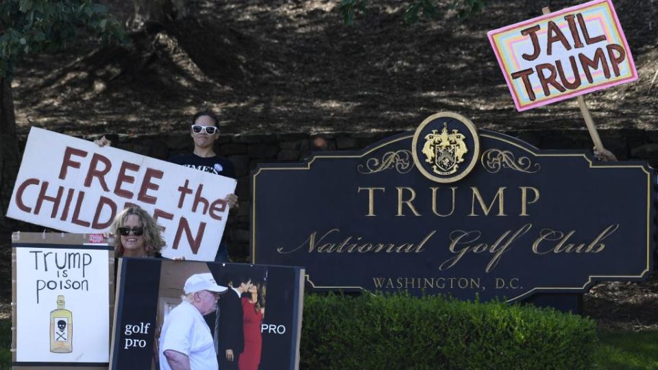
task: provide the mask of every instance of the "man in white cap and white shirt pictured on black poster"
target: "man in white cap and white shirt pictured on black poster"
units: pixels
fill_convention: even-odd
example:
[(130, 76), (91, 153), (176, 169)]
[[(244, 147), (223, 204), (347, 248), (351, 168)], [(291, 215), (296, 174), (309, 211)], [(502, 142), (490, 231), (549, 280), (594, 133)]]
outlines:
[(217, 370), (217, 354), (204, 315), (215, 312), (226, 286), (217, 285), (211, 273), (197, 273), (185, 282), (183, 301), (162, 324), (161, 370)]

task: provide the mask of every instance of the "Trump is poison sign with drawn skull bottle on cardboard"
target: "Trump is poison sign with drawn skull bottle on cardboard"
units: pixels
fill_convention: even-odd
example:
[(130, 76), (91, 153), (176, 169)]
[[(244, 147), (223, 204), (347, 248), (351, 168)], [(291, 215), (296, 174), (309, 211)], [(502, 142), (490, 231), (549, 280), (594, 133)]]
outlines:
[(101, 234), (13, 234), (14, 369), (108, 368), (110, 249)]

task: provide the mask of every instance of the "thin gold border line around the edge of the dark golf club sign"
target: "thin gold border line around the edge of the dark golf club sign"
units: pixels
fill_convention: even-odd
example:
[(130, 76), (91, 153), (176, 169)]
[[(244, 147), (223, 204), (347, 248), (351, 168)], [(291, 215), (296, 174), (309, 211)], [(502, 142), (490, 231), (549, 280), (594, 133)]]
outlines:
[[(500, 134), (496, 133), (496, 135), (493, 134), (488, 134), (488, 133), (483, 133), (481, 136), (485, 138), (490, 138), (493, 140), (499, 140), (502, 141), (503, 143), (507, 143), (509, 145), (512, 145), (513, 147), (517, 147), (519, 149), (522, 149), (524, 151), (527, 151), (528, 153), (532, 154), (535, 157), (581, 157), (583, 160), (587, 161), (589, 164), (589, 169), (617, 169), (617, 168), (623, 168), (623, 169), (642, 169), (644, 173), (646, 173), (646, 265), (644, 268), (644, 271), (642, 273), (639, 273), (639, 275), (588, 275), (587, 277), (587, 282), (585, 282), (582, 286), (538, 286), (535, 288), (532, 288), (530, 291), (527, 291), (525, 293), (522, 293), (520, 295), (517, 295), (512, 298), (507, 298), (505, 297), (505, 301), (507, 302), (512, 302), (516, 301), (517, 299), (522, 299), (524, 297), (528, 297), (530, 295), (533, 295), (534, 293), (538, 293), (541, 291), (547, 291), (548, 293), (554, 293), (553, 291), (582, 291), (585, 289), (585, 287), (589, 284), (592, 284), (594, 280), (613, 280), (613, 279), (632, 279), (632, 278), (642, 278), (646, 273), (650, 271), (650, 250), (651, 250), (651, 227), (650, 227), (650, 219), (651, 219), (651, 179), (653, 174), (647, 171), (646, 166), (643, 164), (633, 164), (633, 165), (615, 165), (615, 164), (602, 164), (603, 162), (597, 162), (596, 165), (594, 165), (594, 162), (592, 160), (589, 160), (585, 153), (537, 153), (533, 151), (532, 149), (529, 149), (528, 147), (531, 147), (533, 149), (537, 149), (535, 147), (532, 147), (531, 145), (526, 144), (520, 145), (518, 143), (515, 143), (513, 140), (518, 140), (515, 138), (512, 138), (511, 136), (508, 136), (510, 139), (503, 138), (501, 136), (507, 136), (505, 134)], [(376, 151), (382, 147), (385, 147), (387, 145), (396, 143), (400, 140), (406, 140), (408, 138), (413, 137), (411, 134), (409, 135), (404, 135), (400, 137), (395, 137), (392, 138), (391, 140), (387, 140), (385, 143), (380, 143), (376, 147), (373, 147), (372, 149), (369, 149), (361, 154), (355, 154), (351, 156), (313, 156), (308, 162), (306, 162), (306, 166), (304, 167), (268, 167), (268, 168), (258, 168), (255, 173), (252, 174), (252, 239), (251, 239), (251, 245), (252, 245), (252, 258), (251, 262), (256, 263), (256, 182), (257, 179), (256, 177), (258, 174), (260, 174), (261, 171), (297, 171), (297, 170), (309, 170), (310, 165), (315, 162), (316, 159), (319, 158), (363, 158), (367, 156), (369, 153), (372, 153), (373, 151)], [(539, 149), (537, 149), (539, 150)], [(478, 162), (474, 160), (474, 162)], [(610, 163), (610, 162), (606, 162)], [(302, 163), (302, 166), (304, 163)], [(366, 291), (370, 292), (369, 289), (363, 288), (363, 286), (320, 286), (316, 285), (313, 280), (310, 280), (310, 274), (305, 274), (304, 277), (306, 278), (306, 281), (313, 286), (313, 288), (317, 289), (326, 289), (326, 290), (337, 290), (337, 289), (361, 289), (361, 291)], [(555, 292), (559, 293), (559, 292)]]

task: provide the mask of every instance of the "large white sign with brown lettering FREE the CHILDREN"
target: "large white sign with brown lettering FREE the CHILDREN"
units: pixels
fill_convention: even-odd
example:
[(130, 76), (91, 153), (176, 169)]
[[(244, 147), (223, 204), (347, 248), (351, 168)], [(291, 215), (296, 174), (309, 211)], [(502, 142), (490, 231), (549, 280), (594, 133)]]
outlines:
[(164, 228), (167, 258), (214, 260), (234, 179), (32, 127), (8, 217), (64, 232), (108, 230), (139, 206)]

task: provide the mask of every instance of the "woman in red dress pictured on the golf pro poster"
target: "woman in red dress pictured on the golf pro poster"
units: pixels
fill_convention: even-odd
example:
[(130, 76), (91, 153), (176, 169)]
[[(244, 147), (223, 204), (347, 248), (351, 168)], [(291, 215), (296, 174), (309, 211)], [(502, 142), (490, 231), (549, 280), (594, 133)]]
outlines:
[(238, 369), (258, 370), (260, 349), (263, 337), (260, 336), (260, 323), (265, 317), (265, 285), (253, 284), (247, 297), (242, 297), (243, 325), (245, 332), (245, 349), (238, 358)]

